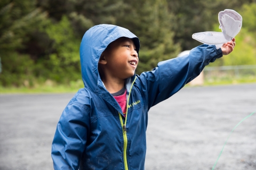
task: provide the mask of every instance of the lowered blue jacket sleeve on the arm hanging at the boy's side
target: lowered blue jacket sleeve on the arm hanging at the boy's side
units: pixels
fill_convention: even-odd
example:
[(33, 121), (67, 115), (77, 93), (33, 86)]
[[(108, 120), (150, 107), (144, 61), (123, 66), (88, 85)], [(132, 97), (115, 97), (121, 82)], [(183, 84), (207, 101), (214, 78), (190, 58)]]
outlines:
[(52, 142), (54, 169), (78, 169), (90, 131), (90, 112), (86, 107), (69, 104), (57, 124)]

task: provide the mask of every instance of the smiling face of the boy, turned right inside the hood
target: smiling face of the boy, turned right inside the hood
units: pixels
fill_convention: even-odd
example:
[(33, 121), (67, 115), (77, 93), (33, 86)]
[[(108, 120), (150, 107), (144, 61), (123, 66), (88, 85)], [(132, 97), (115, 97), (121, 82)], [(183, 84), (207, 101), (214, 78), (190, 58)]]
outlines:
[(102, 53), (99, 64), (105, 67), (105, 73), (118, 79), (126, 79), (134, 75), (139, 58), (136, 47), (130, 38), (121, 37), (113, 41)]

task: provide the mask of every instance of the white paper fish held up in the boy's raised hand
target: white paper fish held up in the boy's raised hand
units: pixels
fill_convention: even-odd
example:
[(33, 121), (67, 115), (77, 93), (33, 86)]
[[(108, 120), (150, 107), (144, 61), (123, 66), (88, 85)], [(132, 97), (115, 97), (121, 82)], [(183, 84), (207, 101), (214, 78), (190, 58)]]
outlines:
[(222, 45), (232, 40), (242, 28), (242, 16), (234, 10), (219, 12), (219, 22), (222, 32), (198, 32), (192, 38), (204, 44)]

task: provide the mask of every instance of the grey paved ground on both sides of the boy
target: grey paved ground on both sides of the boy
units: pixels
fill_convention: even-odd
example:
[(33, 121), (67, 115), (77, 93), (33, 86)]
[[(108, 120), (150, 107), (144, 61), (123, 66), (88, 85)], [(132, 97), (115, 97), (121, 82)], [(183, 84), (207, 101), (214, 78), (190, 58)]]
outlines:
[[(53, 169), (51, 143), (74, 94), (0, 95), (0, 169)], [(211, 169), (256, 110), (256, 84), (184, 88), (150, 109), (146, 170)], [(215, 169), (256, 169), (256, 114)]]

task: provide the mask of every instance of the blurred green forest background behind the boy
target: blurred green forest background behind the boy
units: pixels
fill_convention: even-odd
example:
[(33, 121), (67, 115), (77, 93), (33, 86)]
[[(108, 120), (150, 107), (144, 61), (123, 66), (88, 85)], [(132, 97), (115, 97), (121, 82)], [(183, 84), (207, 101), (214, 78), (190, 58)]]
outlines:
[(136, 73), (149, 71), (159, 61), (201, 45), (191, 38), (193, 33), (221, 31), (218, 13), (226, 8), (243, 16), (236, 53), (210, 66), (255, 65), (256, 1), (1, 0), (0, 87), (83, 87), (79, 46), (86, 30), (101, 23), (137, 35), (141, 49)]

